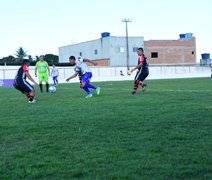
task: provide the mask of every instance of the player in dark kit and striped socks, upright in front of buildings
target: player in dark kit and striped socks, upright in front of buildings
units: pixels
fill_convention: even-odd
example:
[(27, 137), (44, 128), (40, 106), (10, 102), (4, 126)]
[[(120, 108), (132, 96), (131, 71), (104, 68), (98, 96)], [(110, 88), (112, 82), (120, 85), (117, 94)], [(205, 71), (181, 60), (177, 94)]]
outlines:
[(135, 79), (134, 79), (134, 88), (132, 94), (135, 94), (138, 90), (139, 85), (142, 86), (142, 91), (145, 90), (146, 84), (144, 84), (144, 80), (149, 75), (149, 62), (147, 57), (144, 55), (143, 48), (138, 48), (138, 65), (131, 70), (131, 73), (135, 70), (138, 70)]

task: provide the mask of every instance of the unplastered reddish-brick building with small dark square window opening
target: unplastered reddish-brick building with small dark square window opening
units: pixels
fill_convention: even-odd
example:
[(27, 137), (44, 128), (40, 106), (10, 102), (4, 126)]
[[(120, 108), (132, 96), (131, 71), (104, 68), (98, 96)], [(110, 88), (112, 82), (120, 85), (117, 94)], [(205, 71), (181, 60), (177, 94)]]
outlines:
[(196, 63), (195, 37), (145, 41), (144, 49), (151, 64)]

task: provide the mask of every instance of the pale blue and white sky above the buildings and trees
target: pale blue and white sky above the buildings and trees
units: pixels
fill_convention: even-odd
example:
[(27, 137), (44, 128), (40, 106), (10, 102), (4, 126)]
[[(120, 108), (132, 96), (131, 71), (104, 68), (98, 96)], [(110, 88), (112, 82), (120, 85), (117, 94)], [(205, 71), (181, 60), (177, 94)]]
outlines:
[[(0, 58), (23, 47), (33, 57), (101, 38), (102, 32), (144, 40), (196, 37), (197, 61), (212, 53), (211, 0), (0, 0)], [(88, 57), (89, 58), (89, 57)]]

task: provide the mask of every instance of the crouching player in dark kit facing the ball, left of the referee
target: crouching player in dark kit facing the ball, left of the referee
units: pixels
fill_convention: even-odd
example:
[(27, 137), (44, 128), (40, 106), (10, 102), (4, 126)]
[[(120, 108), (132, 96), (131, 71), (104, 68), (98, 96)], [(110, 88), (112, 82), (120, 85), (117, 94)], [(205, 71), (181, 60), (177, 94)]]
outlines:
[(35, 85), (38, 85), (29, 74), (29, 60), (24, 60), (23, 65), (18, 69), (13, 86), (27, 96), (29, 103), (34, 103), (35, 90), (33, 86), (26, 81), (26, 78)]

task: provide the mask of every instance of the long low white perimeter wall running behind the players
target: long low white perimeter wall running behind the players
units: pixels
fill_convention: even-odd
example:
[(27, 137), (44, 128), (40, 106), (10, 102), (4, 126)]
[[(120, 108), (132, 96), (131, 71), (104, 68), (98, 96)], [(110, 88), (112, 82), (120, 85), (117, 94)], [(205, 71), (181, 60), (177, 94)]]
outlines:
[[(0, 66), (0, 80), (14, 79), (19, 66)], [(74, 73), (73, 67), (57, 67), (59, 69), (59, 82), (65, 82), (65, 79)], [(34, 79), (34, 67), (30, 67), (29, 71)], [(51, 67), (50, 67), (51, 69)], [(132, 80), (134, 74), (127, 75), (126, 67), (91, 67), (93, 72), (92, 81), (113, 81), (113, 80)], [(189, 65), (189, 66), (150, 66), (150, 75), (148, 79), (166, 79), (166, 78), (186, 78), (186, 77), (210, 77), (211, 70), (209, 67)], [(124, 76), (120, 75), (122, 70)], [(78, 78), (71, 80), (78, 82)], [(50, 78), (50, 83), (53, 83)]]

